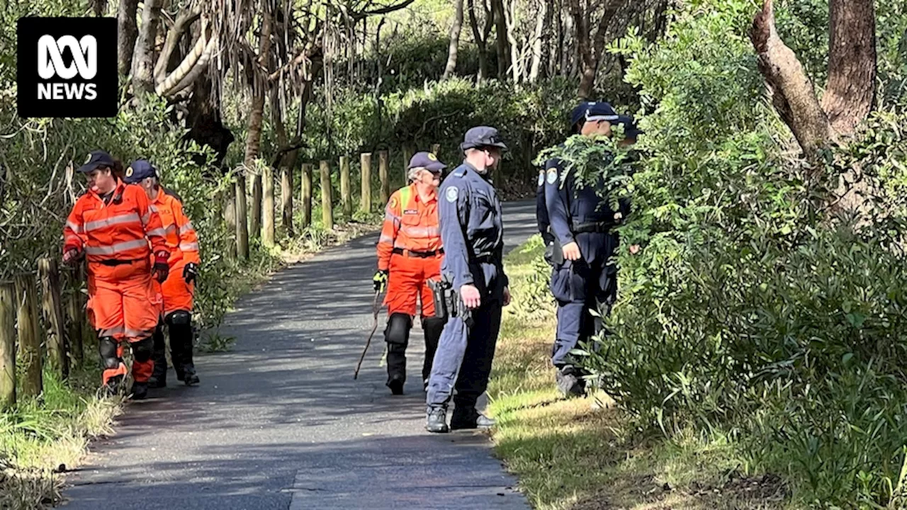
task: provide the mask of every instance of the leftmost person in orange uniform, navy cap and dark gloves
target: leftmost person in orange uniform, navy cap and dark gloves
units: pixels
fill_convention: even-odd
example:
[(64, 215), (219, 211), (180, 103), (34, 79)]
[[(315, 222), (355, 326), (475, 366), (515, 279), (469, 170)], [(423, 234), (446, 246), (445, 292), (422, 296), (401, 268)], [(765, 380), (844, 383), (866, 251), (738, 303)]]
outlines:
[(63, 262), (88, 260), (88, 318), (99, 338), (103, 387), (115, 393), (122, 385), (125, 342), (134, 358), (132, 397), (141, 399), (154, 369), (151, 337), (161, 307), (151, 278), (167, 280), (170, 270), (166, 231), (145, 191), (117, 177), (122, 163), (110, 154), (91, 152), (79, 172), (88, 191), (63, 227)]

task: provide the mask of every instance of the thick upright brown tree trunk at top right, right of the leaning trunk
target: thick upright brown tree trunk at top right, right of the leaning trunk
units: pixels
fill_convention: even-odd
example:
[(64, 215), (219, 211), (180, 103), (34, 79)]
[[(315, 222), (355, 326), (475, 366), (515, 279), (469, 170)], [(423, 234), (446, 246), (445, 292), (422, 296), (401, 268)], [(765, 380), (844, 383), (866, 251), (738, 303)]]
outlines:
[(873, 0), (831, 0), (828, 84), (822, 109), (832, 129), (851, 134), (875, 103)]

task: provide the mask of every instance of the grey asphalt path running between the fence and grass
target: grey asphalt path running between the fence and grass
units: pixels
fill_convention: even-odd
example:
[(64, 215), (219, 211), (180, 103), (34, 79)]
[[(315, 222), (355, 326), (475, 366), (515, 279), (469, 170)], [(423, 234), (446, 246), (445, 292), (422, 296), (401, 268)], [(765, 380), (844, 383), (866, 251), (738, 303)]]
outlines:
[[(504, 205), (505, 243), (534, 231), (534, 204)], [(372, 234), (281, 270), (221, 327), (227, 352), (196, 358), (201, 385), (132, 403), (114, 436), (67, 475), (71, 509), (527, 509), (488, 437), (424, 430), (423, 334), (407, 349), (402, 397), (379, 366)]]

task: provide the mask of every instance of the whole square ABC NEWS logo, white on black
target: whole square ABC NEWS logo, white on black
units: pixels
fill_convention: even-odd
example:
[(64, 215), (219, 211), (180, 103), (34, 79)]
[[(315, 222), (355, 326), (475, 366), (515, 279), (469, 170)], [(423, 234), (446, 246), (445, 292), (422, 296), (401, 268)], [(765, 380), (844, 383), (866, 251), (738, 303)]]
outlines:
[(116, 30), (116, 18), (19, 19), (19, 116), (115, 116)]

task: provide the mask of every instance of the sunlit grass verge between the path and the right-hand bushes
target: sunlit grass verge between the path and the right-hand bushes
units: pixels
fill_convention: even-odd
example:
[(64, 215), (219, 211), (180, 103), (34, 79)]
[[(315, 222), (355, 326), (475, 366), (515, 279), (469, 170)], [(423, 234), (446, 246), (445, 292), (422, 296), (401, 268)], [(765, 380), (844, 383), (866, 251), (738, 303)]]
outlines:
[(645, 436), (602, 393), (562, 398), (554, 387), (554, 306), (543, 247), (533, 237), (505, 261), (506, 309), (489, 384), (496, 454), (533, 508), (755, 510), (787, 507), (776, 476), (746, 472), (725, 436)]

